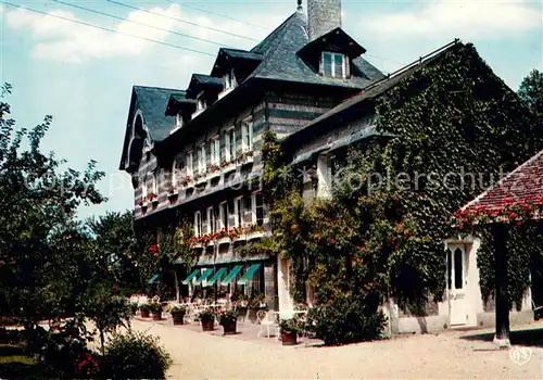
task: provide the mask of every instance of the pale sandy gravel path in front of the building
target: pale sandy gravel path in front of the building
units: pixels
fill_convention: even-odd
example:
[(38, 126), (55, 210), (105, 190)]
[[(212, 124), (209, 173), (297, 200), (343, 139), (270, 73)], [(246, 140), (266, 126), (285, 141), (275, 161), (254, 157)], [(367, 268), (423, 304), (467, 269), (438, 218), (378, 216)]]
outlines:
[(172, 379), (543, 378), (542, 349), (514, 347), (517, 357), (526, 362), (519, 365), (507, 350), (460, 338), (484, 330), (340, 347), (283, 347), (280, 343), (217, 337), (151, 321), (134, 320), (132, 329), (161, 338), (174, 358)]

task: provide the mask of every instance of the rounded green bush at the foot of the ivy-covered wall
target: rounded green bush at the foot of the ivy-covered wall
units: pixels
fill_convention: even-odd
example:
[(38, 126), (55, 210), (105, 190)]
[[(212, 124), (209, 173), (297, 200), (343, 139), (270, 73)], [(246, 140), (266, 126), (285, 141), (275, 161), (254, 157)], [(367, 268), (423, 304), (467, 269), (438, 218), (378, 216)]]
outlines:
[(317, 338), (327, 345), (379, 339), (387, 317), (364, 297), (343, 295), (310, 311)]

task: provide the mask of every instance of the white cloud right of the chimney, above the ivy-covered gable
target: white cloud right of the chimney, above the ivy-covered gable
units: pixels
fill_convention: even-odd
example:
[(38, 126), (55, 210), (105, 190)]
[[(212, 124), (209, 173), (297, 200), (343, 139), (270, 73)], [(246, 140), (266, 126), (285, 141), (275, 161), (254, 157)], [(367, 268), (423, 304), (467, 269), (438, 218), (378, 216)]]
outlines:
[(527, 1), (440, 1), (409, 11), (363, 17), (359, 26), (383, 39), (503, 39), (508, 34), (541, 28), (542, 11), (535, 5)]

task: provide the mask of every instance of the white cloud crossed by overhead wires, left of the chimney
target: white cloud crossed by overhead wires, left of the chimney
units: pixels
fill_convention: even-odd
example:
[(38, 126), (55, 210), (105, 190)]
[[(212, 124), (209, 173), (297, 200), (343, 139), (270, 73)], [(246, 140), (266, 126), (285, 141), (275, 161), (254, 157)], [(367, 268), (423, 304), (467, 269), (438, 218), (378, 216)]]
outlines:
[[(179, 4), (171, 4), (169, 7), (163, 8), (155, 7), (149, 9), (149, 11), (167, 17), (161, 17), (143, 11), (134, 11), (130, 12), (126, 18), (141, 24), (152, 25), (168, 31), (182, 33), (198, 38), (217, 41), (222, 46), (230, 46), (240, 49), (250, 49), (256, 42), (181, 23), (174, 18), (187, 20), (211, 28), (228, 30), (229, 33), (240, 36), (250, 36), (251, 38), (257, 40), (265, 37), (267, 34), (267, 30), (265, 29), (258, 29), (233, 21), (217, 22), (216, 20), (212, 20), (206, 16), (194, 17), (192, 14), (186, 13)], [(143, 25), (130, 23), (129, 21), (106, 24), (102, 22), (105, 21), (103, 17), (97, 18), (100, 22), (78, 18), (74, 13), (65, 10), (52, 10), (49, 14), (94, 25), (104, 25), (105, 27), (122, 34), (99, 30), (85, 25), (60, 20), (58, 17), (31, 13), (24, 9), (7, 9), (4, 12), (5, 25), (8, 27), (15, 30), (29, 29), (31, 31), (33, 39), (36, 42), (33, 54), (38, 59), (62, 62), (81, 62), (99, 58), (140, 56), (155, 47), (155, 45), (149, 41), (123, 36), (122, 34), (129, 34), (161, 42), (182, 46), (209, 52), (211, 54), (215, 54), (219, 48), (219, 46), (216, 45), (184, 38), (165, 30), (157, 30)], [(282, 16), (280, 15), (262, 14), (251, 16), (251, 20), (256, 23), (258, 20), (265, 21), (266, 23), (275, 21), (280, 22), (281, 18)], [(180, 52), (182, 54), (182, 50), (176, 50), (176, 52)]]

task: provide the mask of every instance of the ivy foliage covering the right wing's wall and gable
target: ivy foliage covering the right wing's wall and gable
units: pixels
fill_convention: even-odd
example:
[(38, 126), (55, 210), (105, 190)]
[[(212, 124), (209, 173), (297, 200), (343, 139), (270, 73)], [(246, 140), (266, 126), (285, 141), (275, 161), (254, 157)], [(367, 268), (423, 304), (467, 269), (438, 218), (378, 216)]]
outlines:
[[(388, 297), (401, 306), (442, 300), (443, 240), (458, 233), (451, 216), (543, 147), (528, 110), (471, 45), (431, 59), (374, 106), (377, 131), (395, 138), (367, 140), (338, 160), (330, 201), (304, 202), (279, 141), (265, 136), (274, 246), (291, 258), (291, 289), (300, 301), (307, 283), (320, 305), (338, 292), (375, 296), (372, 305)], [(515, 252), (527, 252), (520, 236), (512, 241)], [(489, 257), (479, 257), (481, 284), (493, 281)], [(517, 297), (527, 286), (522, 257), (510, 261)]]

